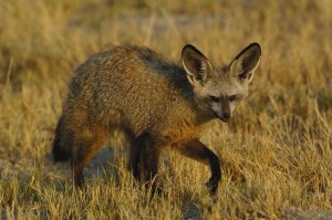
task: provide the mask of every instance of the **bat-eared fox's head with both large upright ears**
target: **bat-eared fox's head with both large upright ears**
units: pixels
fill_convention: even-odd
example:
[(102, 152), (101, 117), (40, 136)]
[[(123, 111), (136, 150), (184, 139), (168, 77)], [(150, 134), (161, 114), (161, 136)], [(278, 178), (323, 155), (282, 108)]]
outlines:
[(181, 62), (197, 106), (208, 115), (228, 122), (238, 103), (248, 96), (248, 85), (260, 56), (260, 45), (251, 43), (227, 67), (216, 70), (195, 46), (185, 45)]

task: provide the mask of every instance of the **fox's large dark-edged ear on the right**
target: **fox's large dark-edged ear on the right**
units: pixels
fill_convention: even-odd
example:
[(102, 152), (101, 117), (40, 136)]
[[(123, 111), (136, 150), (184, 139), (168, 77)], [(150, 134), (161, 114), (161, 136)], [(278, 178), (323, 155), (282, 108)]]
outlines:
[(230, 74), (239, 77), (240, 82), (250, 82), (259, 64), (260, 55), (260, 45), (258, 43), (249, 44), (230, 63)]

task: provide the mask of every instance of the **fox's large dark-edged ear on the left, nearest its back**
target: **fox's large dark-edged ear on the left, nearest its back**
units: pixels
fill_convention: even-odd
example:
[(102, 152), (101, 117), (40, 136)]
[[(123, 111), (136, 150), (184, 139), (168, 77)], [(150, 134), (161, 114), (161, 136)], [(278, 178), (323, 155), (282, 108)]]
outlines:
[(194, 45), (187, 44), (181, 52), (183, 65), (191, 84), (205, 84), (215, 70), (209, 60)]

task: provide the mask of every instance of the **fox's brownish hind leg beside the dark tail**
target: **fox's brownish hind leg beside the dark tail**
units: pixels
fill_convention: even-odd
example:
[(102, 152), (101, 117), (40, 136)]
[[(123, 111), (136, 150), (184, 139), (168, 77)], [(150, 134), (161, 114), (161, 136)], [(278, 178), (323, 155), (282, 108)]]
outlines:
[(76, 187), (84, 186), (84, 167), (96, 155), (105, 143), (105, 133), (101, 129), (85, 128), (75, 134), (72, 157), (73, 180)]

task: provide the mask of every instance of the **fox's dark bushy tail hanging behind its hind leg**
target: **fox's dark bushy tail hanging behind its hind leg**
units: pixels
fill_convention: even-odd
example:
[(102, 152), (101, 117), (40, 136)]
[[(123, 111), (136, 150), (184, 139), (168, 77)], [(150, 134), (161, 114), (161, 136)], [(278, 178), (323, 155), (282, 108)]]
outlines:
[(55, 129), (55, 136), (53, 140), (53, 159), (54, 161), (66, 161), (71, 158), (70, 153), (70, 143), (66, 143), (68, 138), (65, 138), (66, 134), (64, 134), (64, 118), (61, 117), (58, 122), (56, 129)]

